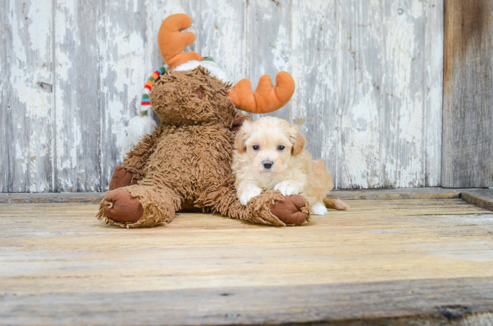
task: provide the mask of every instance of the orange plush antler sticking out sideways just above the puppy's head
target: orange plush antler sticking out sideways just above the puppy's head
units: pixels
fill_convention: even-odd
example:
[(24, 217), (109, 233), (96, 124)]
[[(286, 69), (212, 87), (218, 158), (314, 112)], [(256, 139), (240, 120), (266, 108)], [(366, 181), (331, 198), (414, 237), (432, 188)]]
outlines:
[(241, 79), (229, 89), (229, 99), (240, 110), (250, 113), (269, 113), (283, 107), (294, 93), (293, 77), (286, 71), (276, 75), (276, 86), (269, 75), (260, 77), (259, 84), (252, 91), (248, 78)]

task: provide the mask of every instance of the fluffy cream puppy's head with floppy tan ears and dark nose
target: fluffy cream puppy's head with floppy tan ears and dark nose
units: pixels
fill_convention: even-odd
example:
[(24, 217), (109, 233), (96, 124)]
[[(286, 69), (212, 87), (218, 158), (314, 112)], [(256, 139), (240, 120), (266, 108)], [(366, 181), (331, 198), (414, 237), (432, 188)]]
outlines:
[(281, 173), (292, 157), (299, 155), (305, 139), (298, 127), (285, 120), (264, 117), (243, 124), (236, 135), (236, 150), (259, 173)]

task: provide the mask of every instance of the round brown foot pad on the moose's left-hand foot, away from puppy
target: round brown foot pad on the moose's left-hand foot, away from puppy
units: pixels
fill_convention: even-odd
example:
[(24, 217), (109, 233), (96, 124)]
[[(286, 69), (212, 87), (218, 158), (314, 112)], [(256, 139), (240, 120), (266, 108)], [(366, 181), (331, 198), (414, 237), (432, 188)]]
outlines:
[(114, 222), (135, 223), (144, 213), (140, 199), (132, 197), (126, 189), (108, 192), (105, 200), (105, 215)]

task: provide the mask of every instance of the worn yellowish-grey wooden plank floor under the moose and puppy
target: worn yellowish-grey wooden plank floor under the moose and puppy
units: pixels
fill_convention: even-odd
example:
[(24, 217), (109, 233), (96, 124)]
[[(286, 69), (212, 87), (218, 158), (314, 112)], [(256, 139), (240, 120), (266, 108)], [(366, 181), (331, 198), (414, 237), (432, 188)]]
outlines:
[(0, 324), (493, 321), (493, 212), (347, 202), (303, 227), (178, 213), (134, 230), (91, 202), (2, 203)]

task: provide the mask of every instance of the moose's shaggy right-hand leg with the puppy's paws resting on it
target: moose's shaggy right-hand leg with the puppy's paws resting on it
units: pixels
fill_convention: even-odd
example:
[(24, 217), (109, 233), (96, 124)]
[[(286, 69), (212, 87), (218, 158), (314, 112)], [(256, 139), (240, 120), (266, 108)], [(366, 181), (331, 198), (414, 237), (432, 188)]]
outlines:
[(277, 190), (267, 190), (242, 205), (236, 188), (226, 185), (206, 192), (205, 200), (198, 202), (210, 206), (231, 219), (277, 226), (302, 225), (309, 221), (310, 213), (305, 199), (300, 195), (283, 197)]

